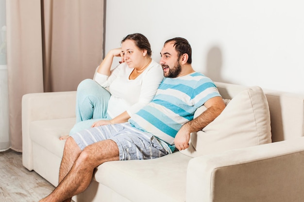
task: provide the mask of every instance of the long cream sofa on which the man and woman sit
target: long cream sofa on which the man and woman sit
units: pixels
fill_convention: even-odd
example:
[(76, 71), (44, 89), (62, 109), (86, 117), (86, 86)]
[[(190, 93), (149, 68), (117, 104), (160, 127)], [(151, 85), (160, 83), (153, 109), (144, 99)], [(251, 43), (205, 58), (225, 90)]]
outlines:
[[(223, 98), (232, 100), (248, 89), (227, 83), (216, 85)], [(304, 95), (268, 90), (264, 93), (273, 143), (267, 143), (266, 137), (265, 141), (253, 143), (255, 146), (247, 145), (246, 139), (234, 144), (237, 140), (231, 142), (230, 134), (220, 145), (209, 141), (205, 145), (208, 148), (211, 144), (209, 152), (197, 153), (196, 148), (194, 153), (175, 152), (152, 160), (106, 162), (96, 169), (90, 186), (73, 200), (304, 202)], [(22, 99), (23, 165), (54, 186), (64, 148), (59, 137), (68, 134), (75, 123), (75, 96), (75, 92), (32, 93)], [(262, 136), (270, 130), (270, 126), (264, 126), (264, 131), (258, 131)], [(242, 138), (246, 134), (243, 131)], [(198, 132), (200, 135), (208, 137), (203, 136), (203, 131)], [(198, 140), (191, 136), (191, 141)]]

